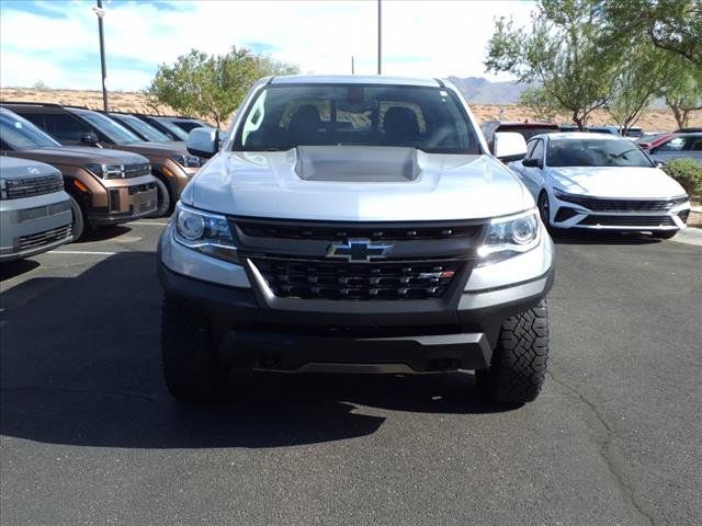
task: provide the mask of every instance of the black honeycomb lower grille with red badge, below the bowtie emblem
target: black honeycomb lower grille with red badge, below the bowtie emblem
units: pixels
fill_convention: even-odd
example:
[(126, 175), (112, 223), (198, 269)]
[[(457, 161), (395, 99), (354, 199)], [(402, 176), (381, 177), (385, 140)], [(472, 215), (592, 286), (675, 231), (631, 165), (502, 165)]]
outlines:
[(404, 300), (440, 298), (464, 260), (372, 263), (251, 258), (271, 291), (283, 298)]

